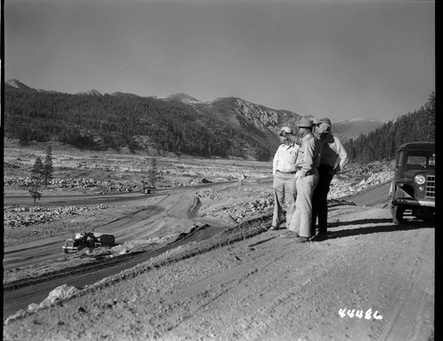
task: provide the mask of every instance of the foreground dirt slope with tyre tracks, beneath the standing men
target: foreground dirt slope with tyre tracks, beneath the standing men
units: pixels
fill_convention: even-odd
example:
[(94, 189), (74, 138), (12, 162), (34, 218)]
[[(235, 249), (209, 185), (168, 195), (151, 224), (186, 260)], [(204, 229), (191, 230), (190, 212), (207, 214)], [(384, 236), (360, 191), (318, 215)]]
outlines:
[[(431, 339), (434, 229), (394, 227), (388, 210), (366, 206), (332, 207), (330, 221), (322, 242), (272, 231), (162, 267), (148, 262), (139, 275), (5, 323), (4, 339)], [(186, 248), (198, 244), (161, 257)]]

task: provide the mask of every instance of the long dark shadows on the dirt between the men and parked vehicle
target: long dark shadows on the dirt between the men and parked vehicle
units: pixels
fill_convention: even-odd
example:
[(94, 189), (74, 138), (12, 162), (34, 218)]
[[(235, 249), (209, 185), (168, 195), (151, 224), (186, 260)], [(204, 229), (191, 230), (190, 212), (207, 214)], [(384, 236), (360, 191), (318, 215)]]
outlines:
[(430, 221), (418, 221), (411, 220), (405, 221), (400, 225), (393, 225), (392, 219), (363, 219), (359, 221), (342, 221), (330, 223), (328, 229), (337, 228), (346, 225), (361, 225), (361, 224), (374, 224), (374, 223), (385, 223), (388, 224), (381, 226), (369, 226), (361, 227), (358, 229), (338, 229), (328, 232), (328, 237), (325, 240), (343, 238), (346, 236), (361, 236), (369, 235), (371, 233), (381, 233), (381, 232), (394, 232), (394, 231), (407, 231), (411, 229), (435, 229), (435, 225)]

